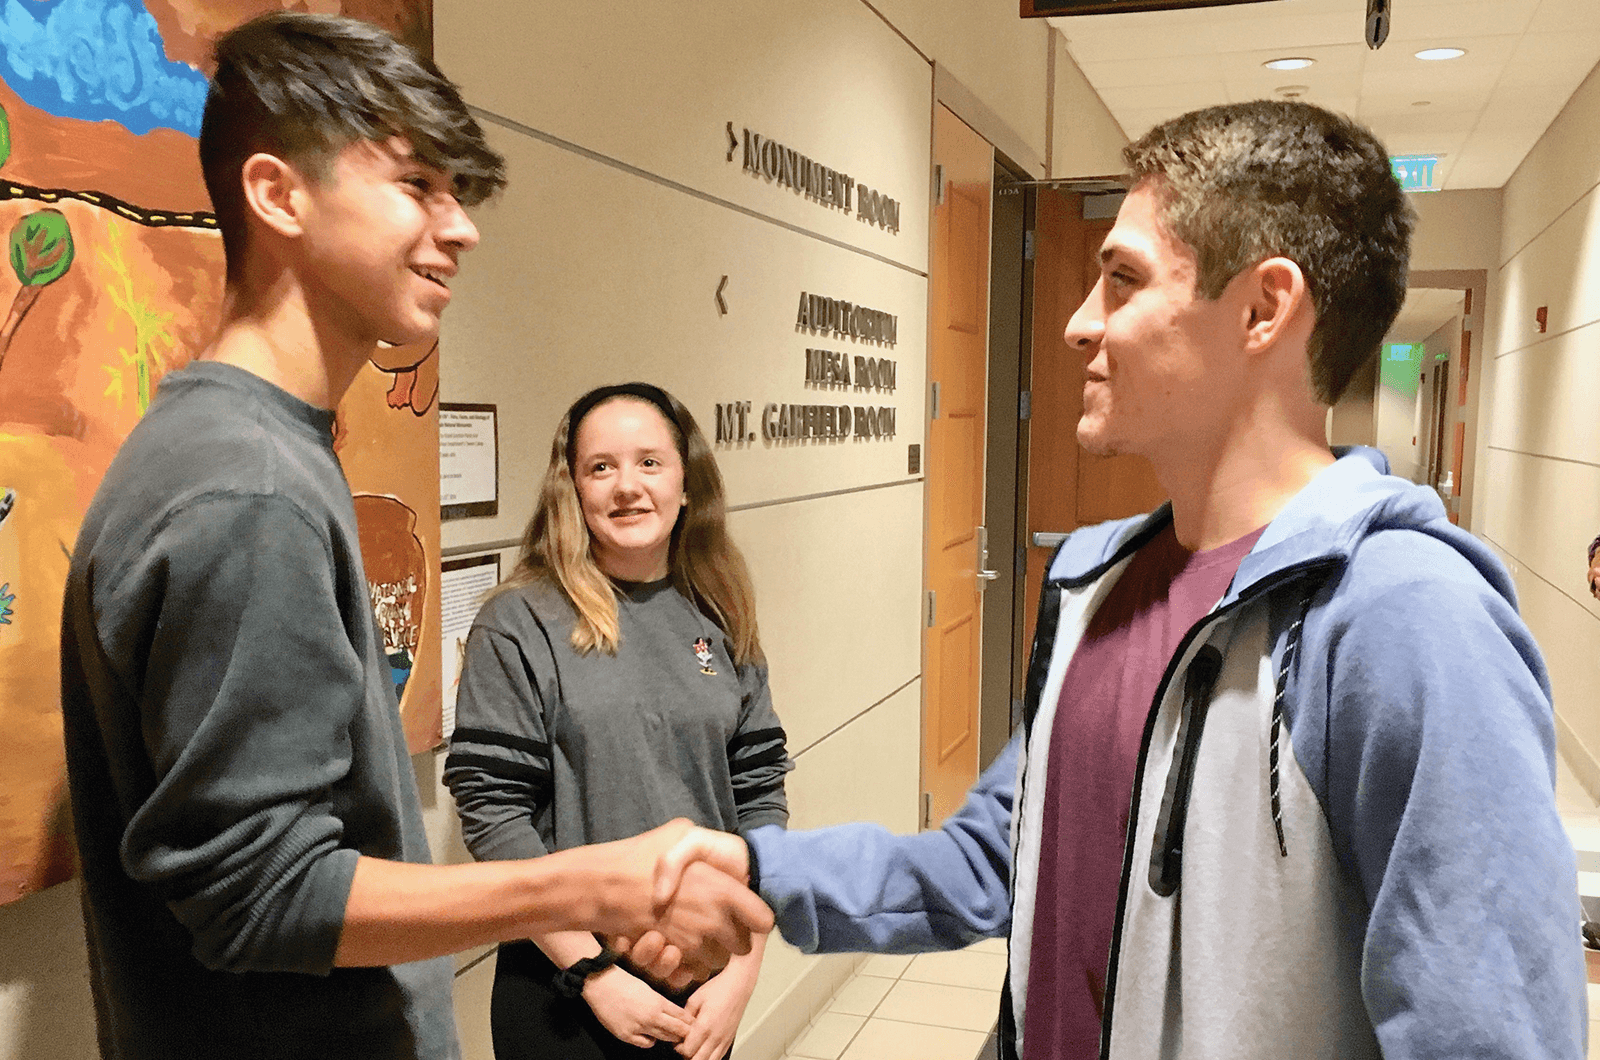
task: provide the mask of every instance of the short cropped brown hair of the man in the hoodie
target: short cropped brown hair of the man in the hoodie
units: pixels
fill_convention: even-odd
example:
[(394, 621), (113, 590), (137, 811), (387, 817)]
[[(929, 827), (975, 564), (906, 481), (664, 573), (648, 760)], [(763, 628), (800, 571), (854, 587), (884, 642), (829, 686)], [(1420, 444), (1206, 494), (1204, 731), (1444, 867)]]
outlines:
[(1416, 211), (1378, 138), (1307, 102), (1258, 99), (1157, 125), (1123, 160), (1194, 248), (1203, 298), (1267, 258), (1301, 267), (1317, 312), (1312, 391), (1338, 402), (1405, 303)]

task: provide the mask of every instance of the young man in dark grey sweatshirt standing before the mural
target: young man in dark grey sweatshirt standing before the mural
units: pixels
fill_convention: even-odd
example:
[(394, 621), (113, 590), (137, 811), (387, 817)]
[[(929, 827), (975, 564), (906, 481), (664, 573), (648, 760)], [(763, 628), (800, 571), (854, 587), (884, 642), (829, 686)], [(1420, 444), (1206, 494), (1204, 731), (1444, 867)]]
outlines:
[(771, 919), (707, 869), (654, 905), (686, 825), (434, 866), (333, 410), (382, 341), (437, 335), (504, 183), (456, 88), (362, 22), (218, 42), (200, 136), (224, 320), (168, 375), (85, 516), (62, 711), (107, 1057), (454, 1057), (450, 954), (664, 925), (691, 967)]

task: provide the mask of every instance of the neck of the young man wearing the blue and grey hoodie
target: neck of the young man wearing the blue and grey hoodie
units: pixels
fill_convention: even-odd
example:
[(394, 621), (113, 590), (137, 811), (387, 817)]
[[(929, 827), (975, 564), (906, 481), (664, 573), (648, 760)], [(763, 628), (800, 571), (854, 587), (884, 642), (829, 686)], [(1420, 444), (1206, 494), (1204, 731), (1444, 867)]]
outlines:
[(1173, 501), (1173, 530), (1190, 551), (1221, 548), (1272, 522), (1290, 500), (1333, 463), (1325, 410), (1310, 402), (1285, 410), (1262, 402), (1210, 444), (1152, 458)]

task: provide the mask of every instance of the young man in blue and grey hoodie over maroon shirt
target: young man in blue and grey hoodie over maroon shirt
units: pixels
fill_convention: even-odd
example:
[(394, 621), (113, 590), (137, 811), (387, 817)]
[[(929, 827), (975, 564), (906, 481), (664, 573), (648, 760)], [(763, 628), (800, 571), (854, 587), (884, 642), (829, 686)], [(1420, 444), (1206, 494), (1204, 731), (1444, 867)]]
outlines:
[(1125, 159), (1066, 333), (1078, 439), (1147, 456), (1171, 501), (1061, 546), (1022, 730), (942, 829), (696, 833), (661, 892), (747, 857), (803, 950), (1008, 934), (1027, 1060), (1581, 1057), (1550, 690), (1510, 578), (1325, 437), (1405, 298), (1382, 146), (1246, 102)]

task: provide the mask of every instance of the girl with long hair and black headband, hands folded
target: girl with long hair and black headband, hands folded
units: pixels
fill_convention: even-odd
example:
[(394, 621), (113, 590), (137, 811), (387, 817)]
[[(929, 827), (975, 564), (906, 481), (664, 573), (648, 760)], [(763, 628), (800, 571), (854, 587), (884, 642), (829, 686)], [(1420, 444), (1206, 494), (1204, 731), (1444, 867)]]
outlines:
[[(784, 730), (722, 476), (677, 399), (584, 394), (555, 431), (507, 586), (467, 637), (445, 762), (474, 857), (526, 858), (675, 817), (787, 823)], [(669, 993), (582, 932), (501, 946), (498, 1060), (717, 1060), (762, 946)]]

